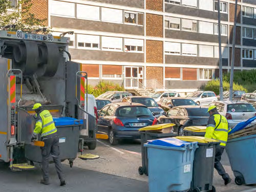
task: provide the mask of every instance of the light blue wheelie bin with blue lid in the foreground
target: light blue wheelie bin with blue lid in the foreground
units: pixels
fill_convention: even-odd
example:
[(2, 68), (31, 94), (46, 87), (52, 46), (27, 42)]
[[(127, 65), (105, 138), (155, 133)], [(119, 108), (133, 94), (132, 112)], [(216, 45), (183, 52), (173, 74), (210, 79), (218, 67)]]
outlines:
[(150, 192), (190, 189), (197, 142), (164, 138), (148, 141), (144, 146), (147, 147)]

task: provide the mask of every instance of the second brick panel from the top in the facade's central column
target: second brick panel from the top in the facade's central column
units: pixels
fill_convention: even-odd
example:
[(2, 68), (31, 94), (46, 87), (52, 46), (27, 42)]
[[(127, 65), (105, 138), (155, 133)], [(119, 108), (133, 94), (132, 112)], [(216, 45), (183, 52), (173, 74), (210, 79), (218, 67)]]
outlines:
[(163, 37), (163, 16), (146, 13), (146, 36)]

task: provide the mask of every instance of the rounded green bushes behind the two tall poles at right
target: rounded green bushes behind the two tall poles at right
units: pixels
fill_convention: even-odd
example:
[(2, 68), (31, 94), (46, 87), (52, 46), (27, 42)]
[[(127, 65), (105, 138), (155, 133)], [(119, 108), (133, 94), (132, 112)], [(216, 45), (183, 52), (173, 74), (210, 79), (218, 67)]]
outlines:
[[(220, 94), (220, 80), (211, 80), (208, 81), (204, 87), (205, 91), (213, 91), (216, 93), (216, 95)], [(229, 82), (223, 81), (223, 91), (228, 91), (229, 90)], [(233, 90), (240, 90), (240, 91), (245, 91), (247, 92), (247, 89), (237, 83), (233, 83)]]

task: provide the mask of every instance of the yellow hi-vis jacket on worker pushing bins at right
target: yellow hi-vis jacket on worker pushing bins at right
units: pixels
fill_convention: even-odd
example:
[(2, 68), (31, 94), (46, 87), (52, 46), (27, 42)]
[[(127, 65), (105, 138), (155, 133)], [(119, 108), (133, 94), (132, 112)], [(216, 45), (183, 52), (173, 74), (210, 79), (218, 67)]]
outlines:
[(227, 119), (217, 112), (209, 117), (205, 137), (219, 140), (221, 142), (220, 145), (225, 147), (230, 131), (231, 129), (228, 128)]

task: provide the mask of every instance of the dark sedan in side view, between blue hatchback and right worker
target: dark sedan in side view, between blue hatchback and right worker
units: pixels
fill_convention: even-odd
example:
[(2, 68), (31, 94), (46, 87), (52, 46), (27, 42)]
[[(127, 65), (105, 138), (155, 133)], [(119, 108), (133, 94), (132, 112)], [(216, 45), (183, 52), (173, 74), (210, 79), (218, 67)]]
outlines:
[(209, 118), (207, 106), (176, 106), (158, 118), (161, 123), (174, 123), (174, 132), (183, 135), (186, 126), (206, 126)]

